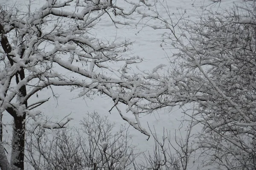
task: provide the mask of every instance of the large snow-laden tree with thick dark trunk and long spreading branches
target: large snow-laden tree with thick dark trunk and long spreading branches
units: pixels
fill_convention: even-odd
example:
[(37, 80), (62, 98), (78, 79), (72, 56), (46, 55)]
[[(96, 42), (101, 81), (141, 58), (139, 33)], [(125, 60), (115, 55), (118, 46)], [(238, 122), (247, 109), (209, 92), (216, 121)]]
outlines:
[[(134, 3), (124, 0), (130, 11), (115, 5), (112, 0), (47, 0), (35, 12), (22, 12), (17, 8), (1, 6), (0, 13), (0, 116), (8, 113), (13, 118), (11, 161), (7, 161), (0, 124), (0, 168), (2, 170), (24, 169), (24, 144), (26, 118), (32, 118), (34, 128), (65, 127), (71, 120), (45, 123), (35, 110), (48, 98), (34, 103), (28, 100), (37, 92), (52, 86), (79, 88), (79, 96), (106, 95), (113, 100), (122, 118), (141, 133), (149, 133), (140, 125), (138, 114), (149, 113), (164, 107), (157, 101), (166, 87), (158, 86), (156, 67), (148, 75), (129, 74), (130, 65), (140, 63), (140, 58), (122, 56), (131, 45), (128, 41), (104, 42), (91, 34), (102, 16), (108, 16), (113, 24), (128, 25), (133, 13), (146, 2)], [(30, 7), (30, 6), (29, 6)], [(30, 9), (30, 8), (29, 8)], [(123, 21), (125, 19), (126, 21)], [(118, 70), (109, 63), (120, 63)], [(63, 70), (63, 72), (59, 72)], [(68, 72), (68, 73), (67, 73)], [(67, 74), (64, 74), (67, 73)], [(108, 73), (112, 73), (110, 76)], [(153, 78), (154, 77), (154, 78)], [(129, 120), (118, 108), (127, 106), (135, 120)], [(1, 118), (1, 117), (0, 117)]]

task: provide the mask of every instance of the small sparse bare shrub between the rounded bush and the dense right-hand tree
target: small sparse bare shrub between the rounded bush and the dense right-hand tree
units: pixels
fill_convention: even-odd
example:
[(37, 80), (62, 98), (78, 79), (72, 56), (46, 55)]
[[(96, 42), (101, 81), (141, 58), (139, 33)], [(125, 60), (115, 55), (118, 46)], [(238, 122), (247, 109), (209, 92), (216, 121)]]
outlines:
[[(185, 122), (183, 122), (185, 123)], [(150, 127), (149, 127), (150, 128)], [(150, 128), (151, 129), (151, 128)], [(186, 134), (181, 132), (186, 131)], [(151, 132), (151, 137), (154, 138), (153, 149), (143, 153), (142, 163), (137, 164), (137, 169), (140, 170), (189, 170), (193, 165), (195, 156), (193, 153), (194, 143), (192, 142), (192, 123), (188, 127), (180, 127), (175, 130), (175, 134), (163, 129), (161, 138), (159, 132), (155, 130)], [(137, 163), (137, 161), (135, 161)], [(189, 167), (191, 166), (191, 167)], [(195, 167), (194, 169), (197, 169)], [(135, 168), (136, 169), (136, 168)]]

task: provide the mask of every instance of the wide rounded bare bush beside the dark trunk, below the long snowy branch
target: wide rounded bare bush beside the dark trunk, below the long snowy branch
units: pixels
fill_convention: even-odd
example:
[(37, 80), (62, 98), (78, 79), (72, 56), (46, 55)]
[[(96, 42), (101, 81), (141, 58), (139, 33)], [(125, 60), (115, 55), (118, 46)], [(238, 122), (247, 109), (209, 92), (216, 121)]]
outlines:
[(128, 128), (115, 127), (97, 112), (81, 121), (81, 129), (56, 130), (55, 137), (44, 128), (27, 131), (26, 151), (35, 170), (123, 170), (133, 167), (137, 153)]

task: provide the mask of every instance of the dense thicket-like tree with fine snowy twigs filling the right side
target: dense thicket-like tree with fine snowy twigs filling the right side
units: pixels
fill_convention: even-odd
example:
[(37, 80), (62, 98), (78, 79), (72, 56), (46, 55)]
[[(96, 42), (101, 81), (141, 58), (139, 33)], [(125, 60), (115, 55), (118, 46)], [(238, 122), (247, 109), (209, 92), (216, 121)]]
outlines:
[[(203, 8), (200, 20), (185, 13), (147, 16), (165, 29), (163, 48), (171, 48), (165, 105), (189, 106), (186, 114), (203, 130), (201, 156), (218, 169), (256, 169), (256, 7), (255, 0), (230, 9)], [(163, 5), (164, 6), (164, 5)], [(192, 106), (192, 107), (191, 107)]]

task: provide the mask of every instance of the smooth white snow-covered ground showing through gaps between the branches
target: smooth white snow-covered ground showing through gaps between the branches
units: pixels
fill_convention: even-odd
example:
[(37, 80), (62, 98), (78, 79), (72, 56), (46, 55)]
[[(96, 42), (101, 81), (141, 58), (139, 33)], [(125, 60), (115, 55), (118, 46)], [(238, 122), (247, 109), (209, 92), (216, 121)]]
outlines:
[[(163, 0), (160, 0), (163, 2)], [(222, 0), (221, 6), (232, 6), (232, 0)], [(5, 4), (14, 4), (19, 6), (20, 9), (27, 10), (27, 6), (29, 4), (29, 0), (0, 0), (0, 3)], [(42, 0), (32, 1), (33, 8), (39, 8), (39, 3), (42, 3)], [(117, 3), (119, 1), (117, 0)], [(186, 11), (186, 13), (190, 16), (190, 19), (193, 21), (198, 20), (198, 15), (201, 12), (200, 6), (211, 3), (208, 0), (167, 0), (167, 6), (171, 12), (174, 14), (178, 14), (180, 11)], [(216, 6), (216, 10), (219, 6)], [(165, 9), (159, 6), (159, 12), (163, 16), (166, 15)], [(134, 17), (134, 23), (137, 23), (141, 18)], [(97, 24), (95, 28), (96, 37), (100, 37), (105, 40), (114, 40), (116, 38), (130, 39), (133, 43), (131, 52), (134, 56), (140, 56), (143, 58), (143, 63), (138, 64), (141, 70), (152, 70), (159, 64), (166, 64), (167, 67), (163, 69), (163, 72), (168, 68), (168, 59), (167, 55), (172, 55), (169, 51), (163, 51), (160, 47), (161, 35), (163, 34), (163, 30), (154, 30), (152, 28), (146, 27), (138, 33), (138, 31), (142, 28), (145, 22), (142, 21), (137, 26), (137, 28), (131, 27), (123, 27), (119, 26), (119, 29), (116, 29), (113, 23), (106, 16), (105, 20), (102, 20), (101, 23)], [(114, 65), (114, 67), (119, 68), (118, 65)], [(61, 72), (61, 71), (60, 71)], [(64, 74), (64, 73), (63, 73)], [(58, 101), (54, 99), (52, 96), (51, 90), (45, 90), (38, 92), (38, 96), (42, 98), (48, 98), (49, 101), (43, 104), (40, 109), (45, 115), (49, 116), (52, 121), (61, 120), (64, 116), (71, 113), (70, 117), (73, 118), (70, 121), (70, 127), (79, 127), (79, 121), (86, 116), (87, 112), (96, 111), (101, 115), (108, 115), (111, 121), (116, 123), (116, 127), (119, 128), (120, 124), (125, 124), (126, 122), (122, 120), (119, 113), (113, 109), (111, 114), (108, 112), (113, 106), (112, 100), (106, 96), (94, 96), (93, 99), (89, 98), (76, 98), (79, 91), (74, 90), (73, 92), (69, 92), (64, 90), (64, 87), (53, 87), (55, 94), (59, 95)], [(33, 100), (30, 99), (30, 100)], [(125, 110), (125, 108), (122, 108)], [(125, 115), (129, 118), (133, 118), (132, 115)], [(157, 134), (161, 136), (163, 134), (163, 127), (167, 130), (170, 130), (171, 134), (175, 134), (175, 130), (178, 130), (180, 127), (180, 120), (184, 119), (184, 115), (182, 113), (182, 109), (178, 107), (173, 108), (165, 108), (154, 112), (151, 115), (144, 115), (140, 118), (141, 125), (148, 130), (148, 125), (153, 129), (155, 128)], [(10, 124), (12, 119), (9, 115), (3, 115), (3, 123)], [(143, 135), (139, 131), (134, 128), (129, 128), (130, 133), (133, 136), (133, 142), (137, 147), (141, 150), (151, 150), (154, 141), (153, 138), (149, 138), (147, 141), (147, 136)], [(183, 128), (184, 130), (184, 128)], [(11, 127), (5, 127), (5, 138), (10, 138), (12, 132)], [(196, 131), (196, 130), (195, 130)], [(200, 128), (198, 128), (200, 131)], [(185, 131), (182, 133), (186, 133)], [(193, 164), (189, 165), (190, 170), (196, 170), (198, 168), (198, 164), (200, 162), (195, 161)], [(210, 167), (200, 167), (200, 169), (209, 169)]]

